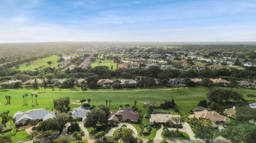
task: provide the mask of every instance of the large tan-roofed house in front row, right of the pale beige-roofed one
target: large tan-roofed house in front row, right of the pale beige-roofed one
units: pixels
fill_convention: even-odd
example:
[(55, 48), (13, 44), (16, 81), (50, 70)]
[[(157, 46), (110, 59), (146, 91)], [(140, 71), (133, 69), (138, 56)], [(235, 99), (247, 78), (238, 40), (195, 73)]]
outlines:
[(210, 119), (213, 123), (226, 123), (229, 121), (228, 118), (225, 116), (222, 116), (221, 114), (215, 112), (215, 111), (208, 111), (208, 110), (202, 110), (198, 112), (194, 112), (194, 114), (190, 114), (188, 116), (189, 119), (191, 118), (205, 118)]

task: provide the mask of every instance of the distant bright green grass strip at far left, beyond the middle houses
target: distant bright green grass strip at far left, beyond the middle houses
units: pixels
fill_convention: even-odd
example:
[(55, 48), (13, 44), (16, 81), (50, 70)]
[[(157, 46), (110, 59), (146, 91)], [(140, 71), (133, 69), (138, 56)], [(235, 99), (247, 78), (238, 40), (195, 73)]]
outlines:
[[(60, 57), (58, 56), (50, 56), (50, 57), (45, 57), (43, 59), (37, 59), (35, 61), (32, 61), (30, 65), (26, 66), (26, 63), (22, 63), (19, 67), (20, 70), (22, 71), (26, 71), (26, 70), (35, 70), (35, 68), (39, 68), (39, 67), (56, 67), (58, 64), (57, 60)], [(53, 64), (52, 65), (48, 65), (47, 61), (52, 61)]]

